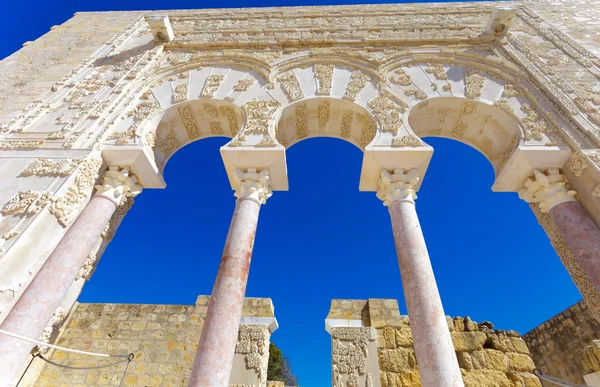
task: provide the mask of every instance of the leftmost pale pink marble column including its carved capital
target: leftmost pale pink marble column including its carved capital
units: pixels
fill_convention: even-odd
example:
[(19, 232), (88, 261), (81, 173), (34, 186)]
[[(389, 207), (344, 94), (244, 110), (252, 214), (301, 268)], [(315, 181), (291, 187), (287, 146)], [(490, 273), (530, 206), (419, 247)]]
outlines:
[[(110, 167), (102, 185), (67, 230), (40, 271), (23, 292), (0, 329), (37, 340), (67, 290), (75, 281), (102, 231), (126, 196), (140, 187), (129, 169)], [(0, 387), (9, 387), (25, 363), (33, 344), (0, 333)]]

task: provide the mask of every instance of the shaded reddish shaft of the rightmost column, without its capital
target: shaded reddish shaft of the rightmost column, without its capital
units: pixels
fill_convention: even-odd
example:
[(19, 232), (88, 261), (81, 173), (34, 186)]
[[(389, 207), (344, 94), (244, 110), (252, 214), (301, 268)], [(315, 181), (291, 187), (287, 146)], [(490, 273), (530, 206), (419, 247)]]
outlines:
[(550, 209), (549, 215), (600, 292), (600, 228), (579, 202), (560, 203)]

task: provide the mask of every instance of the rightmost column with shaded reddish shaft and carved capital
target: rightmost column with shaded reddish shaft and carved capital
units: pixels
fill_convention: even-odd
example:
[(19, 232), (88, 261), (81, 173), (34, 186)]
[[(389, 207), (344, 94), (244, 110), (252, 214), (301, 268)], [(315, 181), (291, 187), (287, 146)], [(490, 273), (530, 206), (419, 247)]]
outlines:
[(560, 231), (583, 271), (600, 292), (600, 228), (568, 189), (566, 177), (557, 168), (545, 173), (534, 170), (519, 191), (519, 197), (539, 205)]

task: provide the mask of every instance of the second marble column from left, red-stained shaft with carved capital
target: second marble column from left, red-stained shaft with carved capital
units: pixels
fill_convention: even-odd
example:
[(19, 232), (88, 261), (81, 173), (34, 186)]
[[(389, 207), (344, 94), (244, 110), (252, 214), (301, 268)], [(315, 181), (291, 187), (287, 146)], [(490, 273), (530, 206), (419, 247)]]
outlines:
[(227, 387), (244, 307), (261, 204), (271, 196), (269, 171), (236, 170), (235, 211), (208, 303), (189, 387)]

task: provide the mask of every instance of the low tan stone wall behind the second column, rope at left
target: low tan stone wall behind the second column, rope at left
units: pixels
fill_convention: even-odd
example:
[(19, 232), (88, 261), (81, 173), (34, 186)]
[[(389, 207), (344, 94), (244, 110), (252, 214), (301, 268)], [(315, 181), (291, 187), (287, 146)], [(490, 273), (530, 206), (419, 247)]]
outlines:
[[(55, 344), (98, 353), (134, 353), (123, 386), (185, 386), (208, 300), (208, 296), (200, 296), (196, 305), (77, 304)], [(269, 339), (274, 329), (271, 300), (247, 298), (230, 379), (232, 385), (266, 385)], [(258, 352), (252, 350), (253, 346)], [(47, 357), (74, 367), (95, 367), (114, 360), (64, 351), (52, 351)], [(118, 386), (125, 368), (125, 364), (120, 364), (96, 370), (71, 370), (39, 359), (33, 364), (37, 365), (37, 372), (35, 367), (30, 369), (20, 386)]]

